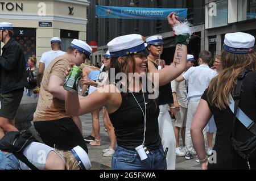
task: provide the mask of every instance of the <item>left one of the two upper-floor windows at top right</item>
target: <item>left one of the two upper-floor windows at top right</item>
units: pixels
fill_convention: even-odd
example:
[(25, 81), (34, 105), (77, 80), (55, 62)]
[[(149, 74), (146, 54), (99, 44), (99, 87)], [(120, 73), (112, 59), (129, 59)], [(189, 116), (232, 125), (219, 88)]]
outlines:
[[(222, 0), (222, 1), (216, 1), (214, 2), (216, 5), (216, 9), (212, 9), (212, 7), (209, 7), (209, 4), (207, 7), (210, 10), (208, 13), (208, 27), (220, 27), (225, 26), (228, 24), (228, 0)], [(212, 12), (216, 11), (216, 13)]]

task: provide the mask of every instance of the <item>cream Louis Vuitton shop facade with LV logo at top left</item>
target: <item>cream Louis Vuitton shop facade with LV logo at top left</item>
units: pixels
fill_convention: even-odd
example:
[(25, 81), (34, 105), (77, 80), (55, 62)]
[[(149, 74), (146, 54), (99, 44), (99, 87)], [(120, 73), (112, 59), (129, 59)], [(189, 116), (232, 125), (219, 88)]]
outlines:
[[(53, 36), (66, 50), (73, 39), (86, 40), (87, 0), (0, 0), (0, 22), (13, 23), (14, 39), (22, 44), (26, 60), (51, 50)], [(38, 61), (39, 62), (39, 61)]]

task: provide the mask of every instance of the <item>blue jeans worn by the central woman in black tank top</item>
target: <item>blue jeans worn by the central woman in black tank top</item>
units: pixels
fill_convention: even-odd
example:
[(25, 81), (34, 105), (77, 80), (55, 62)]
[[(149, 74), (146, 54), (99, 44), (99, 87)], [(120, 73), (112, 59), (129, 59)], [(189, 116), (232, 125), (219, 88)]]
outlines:
[(151, 150), (147, 158), (141, 161), (137, 151), (117, 146), (112, 157), (113, 170), (166, 170), (166, 157), (163, 146)]

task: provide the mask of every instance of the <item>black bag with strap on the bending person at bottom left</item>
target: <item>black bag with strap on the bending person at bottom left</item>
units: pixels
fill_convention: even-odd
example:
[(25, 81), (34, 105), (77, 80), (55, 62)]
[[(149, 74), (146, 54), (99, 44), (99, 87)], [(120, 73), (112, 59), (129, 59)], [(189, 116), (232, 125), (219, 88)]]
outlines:
[(38, 142), (30, 131), (8, 132), (0, 140), (0, 150), (13, 153), (16, 158), (25, 163), (30, 169), (38, 170), (38, 168), (23, 155), (24, 149), (33, 141)]

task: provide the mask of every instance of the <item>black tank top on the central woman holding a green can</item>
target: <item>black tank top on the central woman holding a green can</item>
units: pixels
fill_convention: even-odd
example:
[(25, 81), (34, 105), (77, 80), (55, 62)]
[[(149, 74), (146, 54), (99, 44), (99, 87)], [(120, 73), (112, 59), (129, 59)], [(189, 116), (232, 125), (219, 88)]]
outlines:
[[(145, 111), (142, 92), (133, 92), (138, 103)], [(122, 103), (117, 111), (110, 113), (109, 117), (113, 124), (117, 144), (126, 149), (135, 149), (142, 145), (144, 134), (144, 117), (138, 103), (131, 92), (121, 93)], [(148, 93), (144, 93), (147, 115), (145, 146), (148, 149), (157, 149), (161, 144), (158, 131), (159, 107), (154, 99), (148, 99)]]

